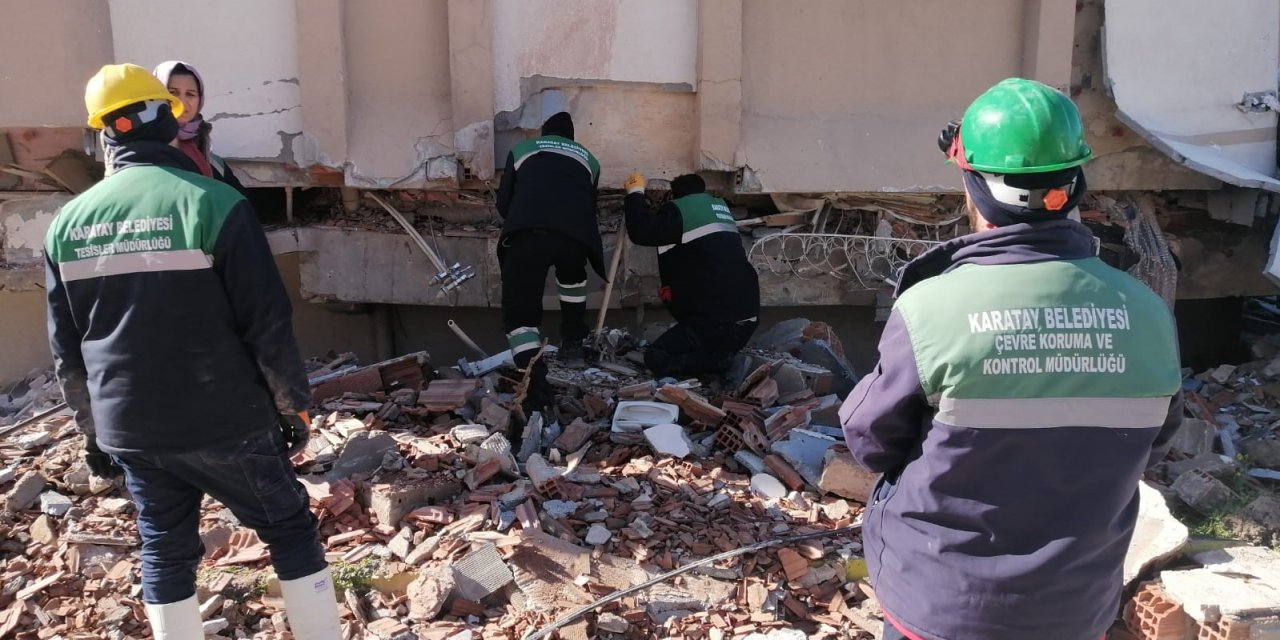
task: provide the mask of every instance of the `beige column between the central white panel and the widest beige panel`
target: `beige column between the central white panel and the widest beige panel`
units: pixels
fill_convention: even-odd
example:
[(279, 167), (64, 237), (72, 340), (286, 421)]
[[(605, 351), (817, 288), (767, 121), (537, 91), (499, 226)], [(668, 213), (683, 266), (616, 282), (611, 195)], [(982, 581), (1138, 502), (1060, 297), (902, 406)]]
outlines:
[(700, 170), (732, 172), (742, 120), (742, 0), (698, 3)]

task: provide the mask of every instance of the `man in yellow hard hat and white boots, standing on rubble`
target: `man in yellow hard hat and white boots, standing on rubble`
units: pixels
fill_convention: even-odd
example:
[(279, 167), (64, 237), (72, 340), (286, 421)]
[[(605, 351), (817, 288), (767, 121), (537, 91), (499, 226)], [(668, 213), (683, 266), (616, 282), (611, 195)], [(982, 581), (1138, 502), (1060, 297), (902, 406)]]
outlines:
[(333, 579), (289, 462), (311, 398), (253, 209), (177, 148), (182, 102), (146, 69), (102, 67), (84, 104), (114, 172), (49, 228), (49, 339), (86, 465), (123, 474), (137, 506), (154, 635), (205, 637), (210, 495), (266, 543), (293, 636), (337, 640)]

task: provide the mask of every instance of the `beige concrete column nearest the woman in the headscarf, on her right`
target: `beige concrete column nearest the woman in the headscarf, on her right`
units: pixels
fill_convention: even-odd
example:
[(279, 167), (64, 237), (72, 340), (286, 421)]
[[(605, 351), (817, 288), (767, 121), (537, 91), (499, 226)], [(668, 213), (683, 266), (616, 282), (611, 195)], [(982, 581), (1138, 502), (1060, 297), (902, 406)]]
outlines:
[(346, 0), (296, 1), (302, 134), (315, 145), (315, 155), (294, 160), (301, 166), (342, 166), (347, 160)]

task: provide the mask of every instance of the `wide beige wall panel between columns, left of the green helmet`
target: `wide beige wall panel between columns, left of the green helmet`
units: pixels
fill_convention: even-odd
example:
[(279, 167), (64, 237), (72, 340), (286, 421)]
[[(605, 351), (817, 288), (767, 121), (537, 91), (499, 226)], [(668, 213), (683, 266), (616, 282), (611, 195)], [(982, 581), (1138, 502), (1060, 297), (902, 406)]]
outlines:
[(740, 161), (763, 191), (957, 189), (934, 140), (1021, 72), (1024, 5), (744, 0)]

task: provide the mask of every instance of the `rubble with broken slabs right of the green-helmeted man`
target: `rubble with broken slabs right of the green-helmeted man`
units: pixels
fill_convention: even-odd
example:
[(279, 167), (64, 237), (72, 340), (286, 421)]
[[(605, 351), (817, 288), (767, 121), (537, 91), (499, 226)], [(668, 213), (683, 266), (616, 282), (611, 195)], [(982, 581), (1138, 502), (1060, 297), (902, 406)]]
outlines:
[(1125, 581), (1151, 580), (1114, 637), (1280, 639), (1280, 335), (1251, 349), (1242, 365), (1184, 370), (1194, 417), (1148, 474)]

